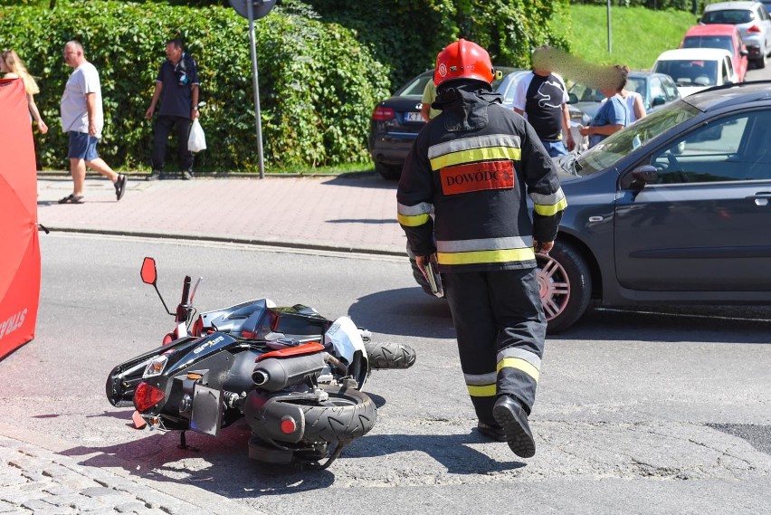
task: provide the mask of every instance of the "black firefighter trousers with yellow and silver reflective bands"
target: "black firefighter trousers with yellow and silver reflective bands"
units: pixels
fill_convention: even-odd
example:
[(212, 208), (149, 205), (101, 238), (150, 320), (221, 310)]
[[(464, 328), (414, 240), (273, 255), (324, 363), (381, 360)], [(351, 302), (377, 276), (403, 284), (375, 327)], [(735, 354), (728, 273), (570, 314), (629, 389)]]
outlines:
[(443, 273), (466, 387), (479, 420), (496, 396), (519, 399), (530, 414), (546, 338), (535, 269)]

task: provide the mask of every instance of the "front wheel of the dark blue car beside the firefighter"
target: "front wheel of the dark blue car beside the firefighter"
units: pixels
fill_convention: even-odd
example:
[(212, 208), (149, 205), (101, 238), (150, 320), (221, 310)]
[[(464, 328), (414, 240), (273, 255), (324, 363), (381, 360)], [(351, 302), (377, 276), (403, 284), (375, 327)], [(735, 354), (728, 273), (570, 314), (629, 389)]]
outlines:
[(537, 254), (538, 288), (546, 314), (547, 333), (572, 326), (592, 297), (592, 278), (581, 254), (566, 243), (555, 243), (548, 254)]

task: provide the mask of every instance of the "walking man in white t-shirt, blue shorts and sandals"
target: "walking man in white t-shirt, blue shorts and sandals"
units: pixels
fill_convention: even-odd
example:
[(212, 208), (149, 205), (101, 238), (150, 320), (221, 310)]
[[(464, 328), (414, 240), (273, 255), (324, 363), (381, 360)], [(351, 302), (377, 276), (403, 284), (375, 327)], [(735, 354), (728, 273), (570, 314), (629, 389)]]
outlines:
[(77, 41), (64, 45), (64, 62), (74, 69), (64, 86), (60, 106), (62, 129), (70, 135), (68, 156), (73, 187), (71, 195), (62, 198), (59, 204), (83, 203), (86, 165), (112, 181), (115, 196), (120, 200), (126, 191), (126, 176), (115, 173), (96, 149), (104, 127), (99, 72), (86, 61), (83, 46)]

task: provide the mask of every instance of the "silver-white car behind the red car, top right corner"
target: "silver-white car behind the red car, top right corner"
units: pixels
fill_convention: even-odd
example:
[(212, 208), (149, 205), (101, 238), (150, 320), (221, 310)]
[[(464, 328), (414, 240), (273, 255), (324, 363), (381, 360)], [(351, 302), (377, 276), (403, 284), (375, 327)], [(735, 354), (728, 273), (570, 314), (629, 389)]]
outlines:
[(741, 32), (748, 58), (757, 68), (766, 67), (771, 52), (771, 18), (760, 2), (719, 2), (704, 7), (700, 24), (732, 24)]

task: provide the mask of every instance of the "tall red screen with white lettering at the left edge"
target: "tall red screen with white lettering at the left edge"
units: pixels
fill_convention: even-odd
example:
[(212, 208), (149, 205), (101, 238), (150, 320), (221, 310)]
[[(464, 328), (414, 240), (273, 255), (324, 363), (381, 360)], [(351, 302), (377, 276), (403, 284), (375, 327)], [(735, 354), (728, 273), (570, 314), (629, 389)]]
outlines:
[(37, 167), (24, 82), (0, 81), (0, 359), (34, 338), (40, 301)]

